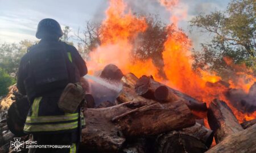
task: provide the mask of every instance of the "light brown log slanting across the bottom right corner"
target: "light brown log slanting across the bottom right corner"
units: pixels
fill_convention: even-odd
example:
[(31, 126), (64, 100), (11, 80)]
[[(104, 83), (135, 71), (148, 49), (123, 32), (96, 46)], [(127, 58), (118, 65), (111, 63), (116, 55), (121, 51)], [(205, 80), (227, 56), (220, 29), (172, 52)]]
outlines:
[(248, 129), (239, 131), (226, 137), (218, 145), (212, 147), (207, 153), (233, 153), (233, 152), (256, 152), (256, 124)]

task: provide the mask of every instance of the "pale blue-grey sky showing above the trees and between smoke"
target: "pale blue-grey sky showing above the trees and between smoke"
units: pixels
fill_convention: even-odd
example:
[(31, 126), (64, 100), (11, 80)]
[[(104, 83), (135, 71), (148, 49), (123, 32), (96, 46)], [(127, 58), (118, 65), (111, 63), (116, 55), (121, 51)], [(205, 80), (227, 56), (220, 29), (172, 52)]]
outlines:
[[(139, 14), (159, 14), (164, 22), (168, 22), (170, 13), (158, 0), (124, 0), (133, 12)], [(205, 39), (194, 30), (189, 33), (188, 21), (199, 13), (209, 14), (214, 10), (225, 10), (228, 0), (180, 0), (176, 9), (187, 10), (187, 16), (179, 23), (179, 27), (191, 37), (195, 46)], [(18, 43), (21, 40), (38, 40), (35, 37), (38, 22), (44, 18), (57, 20), (61, 27), (71, 27), (71, 35), (82, 29), (86, 21), (100, 22), (105, 18), (108, 8), (107, 0), (0, 0), (0, 43)], [(75, 41), (75, 36), (72, 36)]]

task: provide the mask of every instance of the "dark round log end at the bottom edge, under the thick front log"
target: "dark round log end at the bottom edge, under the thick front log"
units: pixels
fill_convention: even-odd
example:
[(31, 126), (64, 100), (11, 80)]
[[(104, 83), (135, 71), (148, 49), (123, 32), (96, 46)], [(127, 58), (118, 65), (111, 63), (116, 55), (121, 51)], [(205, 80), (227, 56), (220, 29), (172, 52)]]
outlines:
[(155, 143), (155, 152), (158, 153), (203, 153), (207, 150), (208, 147), (199, 139), (181, 131), (160, 134)]

